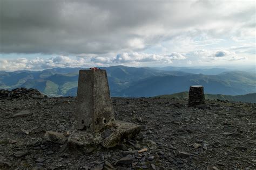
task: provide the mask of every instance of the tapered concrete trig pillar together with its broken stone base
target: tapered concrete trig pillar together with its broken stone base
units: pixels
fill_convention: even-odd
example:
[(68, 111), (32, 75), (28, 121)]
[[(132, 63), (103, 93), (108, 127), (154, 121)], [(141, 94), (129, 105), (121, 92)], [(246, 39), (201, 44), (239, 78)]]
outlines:
[(75, 110), (75, 130), (66, 138), (64, 134), (46, 131), (46, 140), (68, 146), (105, 148), (114, 147), (136, 136), (140, 125), (116, 121), (106, 70), (94, 67), (80, 70)]

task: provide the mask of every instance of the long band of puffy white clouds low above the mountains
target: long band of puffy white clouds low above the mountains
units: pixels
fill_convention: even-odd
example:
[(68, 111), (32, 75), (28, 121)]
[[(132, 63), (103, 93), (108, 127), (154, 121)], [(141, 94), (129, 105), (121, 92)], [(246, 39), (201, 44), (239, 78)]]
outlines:
[(140, 63), (172, 63), (172, 60), (184, 60), (186, 57), (180, 53), (169, 55), (145, 54), (145, 53), (121, 53), (116, 57), (106, 56), (54, 56), (50, 58), (26, 58), (0, 59), (0, 70), (20, 70), (20, 69), (47, 69), (54, 67), (92, 67), (92, 66), (113, 66), (117, 64), (133, 64), (139, 66)]

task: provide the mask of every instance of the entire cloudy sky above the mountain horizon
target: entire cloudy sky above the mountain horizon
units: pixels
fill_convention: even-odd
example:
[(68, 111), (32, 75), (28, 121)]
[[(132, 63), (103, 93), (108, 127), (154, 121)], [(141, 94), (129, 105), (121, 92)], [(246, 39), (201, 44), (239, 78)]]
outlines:
[(0, 70), (255, 65), (255, 1), (0, 1)]

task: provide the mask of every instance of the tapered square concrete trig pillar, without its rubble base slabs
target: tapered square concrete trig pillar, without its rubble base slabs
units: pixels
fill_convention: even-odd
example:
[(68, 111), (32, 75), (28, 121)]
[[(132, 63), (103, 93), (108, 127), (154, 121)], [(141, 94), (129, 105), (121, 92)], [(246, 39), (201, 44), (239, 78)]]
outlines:
[(99, 132), (114, 122), (106, 70), (79, 70), (76, 128)]

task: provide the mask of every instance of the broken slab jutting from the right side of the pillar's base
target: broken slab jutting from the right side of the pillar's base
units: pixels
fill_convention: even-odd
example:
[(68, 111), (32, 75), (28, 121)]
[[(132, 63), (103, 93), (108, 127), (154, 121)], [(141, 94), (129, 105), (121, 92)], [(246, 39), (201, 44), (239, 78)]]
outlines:
[(129, 122), (117, 121), (116, 129), (102, 141), (102, 146), (106, 148), (120, 144), (124, 139), (131, 139), (136, 136), (141, 126)]

